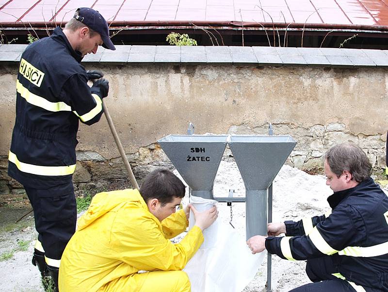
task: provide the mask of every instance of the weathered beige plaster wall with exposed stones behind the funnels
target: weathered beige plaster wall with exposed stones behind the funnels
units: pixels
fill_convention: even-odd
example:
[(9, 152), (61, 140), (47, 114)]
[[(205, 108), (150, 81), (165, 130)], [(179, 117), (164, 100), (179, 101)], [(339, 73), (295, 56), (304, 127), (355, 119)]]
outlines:
[[(94, 68), (89, 65), (88, 69)], [(185, 134), (267, 134), (298, 140), (288, 163), (298, 168), (322, 164), (330, 146), (355, 141), (374, 168), (383, 168), (388, 128), (388, 73), (384, 68), (142, 65), (105, 66), (108, 105), (122, 144), (142, 176), (152, 166), (168, 166), (156, 140)], [(16, 65), (0, 67), (0, 180), (6, 176), (15, 119)], [(104, 117), (81, 125), (76, 182), (127, 177)], [(89, 156), (88, 156), (89, 155)], [(82, 167), (81, 167), (82, 165)], [(6, 190), (5, 190), (6, 191)]]

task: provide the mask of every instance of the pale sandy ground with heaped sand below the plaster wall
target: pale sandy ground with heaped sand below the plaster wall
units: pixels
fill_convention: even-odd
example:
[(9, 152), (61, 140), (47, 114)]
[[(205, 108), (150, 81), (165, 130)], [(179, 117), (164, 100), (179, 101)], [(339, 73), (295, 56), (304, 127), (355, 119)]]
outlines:
[[(214, 196), (227, 196), (228, 189), (235, 196), (244, 196), (242, 178), (234, 163), (222, 161), (214, 185)], [(322, 175), (283, 166), (274, 180), (273, 221), (299, 220), (303, 217), (322, 215), (329, 206), (326, 198), (332, 192), (325, 186)], [(15, 197), (15, 195), (13, 195)], [(23, 198), (23, 195), (16, 196)], [(0, 199), (0, 291), (44, 292), (38, 269), (31, 264), (34, 240), (37, 236), (33, 217), (27, 216), (19, 223), (15, 221), (25, 214), (30, 206), (24, 199), (16, 199), (17, 208), (7, 208), (7, 200)], [(15, 199), (15, 198), (14, 198)], [(4, 203), (5, 202), (5, 203)], [(187, 198), (184, 199), (187, 202)], [(219, 220), (228, 223), (230, 207), (219, 203)], [(241, 236), (245, 234), (244, 204), (233, 204), (233, 224)], [(30, 214), (32, 215), (32, 214)], [(264, 292), (267, 282), (267, 257), (256, 276), (247, 283), (243, 292)], [(305, 261), (288, 261), (272, 256), (272, 291), (287, 292), (309, 282), (305, 273)]]

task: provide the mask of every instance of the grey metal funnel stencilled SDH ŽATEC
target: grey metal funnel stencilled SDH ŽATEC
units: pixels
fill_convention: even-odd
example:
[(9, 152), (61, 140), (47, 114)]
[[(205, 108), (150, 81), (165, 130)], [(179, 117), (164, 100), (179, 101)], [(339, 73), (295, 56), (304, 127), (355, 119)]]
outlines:
[(227, 135), (168, 135), (158, 140), (192, 195), (213, 199), (214, 178), (226, 147)]

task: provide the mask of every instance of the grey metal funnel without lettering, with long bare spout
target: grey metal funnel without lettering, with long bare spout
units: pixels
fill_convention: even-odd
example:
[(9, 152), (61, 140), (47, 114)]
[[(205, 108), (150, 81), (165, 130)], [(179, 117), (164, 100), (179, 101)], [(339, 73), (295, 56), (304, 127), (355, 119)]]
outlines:
[(247, 240), (267, 234), (268, 188), (295, 145), (291, 136), (230, 137), (229, 147), (245, 185)]

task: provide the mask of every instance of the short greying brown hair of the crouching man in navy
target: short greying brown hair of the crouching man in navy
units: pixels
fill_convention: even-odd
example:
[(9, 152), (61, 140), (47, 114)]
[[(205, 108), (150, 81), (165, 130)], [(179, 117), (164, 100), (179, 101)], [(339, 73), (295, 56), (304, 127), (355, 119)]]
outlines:
[(342, 143), (330, 148), (324, 155), (330, 170), (339, 177), (343, 171), (352, 174), (356, 182), (368, 179), (372, 164), (365, 152), (354, 143)]

